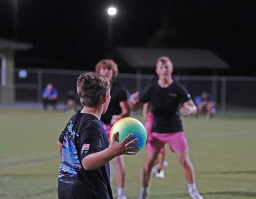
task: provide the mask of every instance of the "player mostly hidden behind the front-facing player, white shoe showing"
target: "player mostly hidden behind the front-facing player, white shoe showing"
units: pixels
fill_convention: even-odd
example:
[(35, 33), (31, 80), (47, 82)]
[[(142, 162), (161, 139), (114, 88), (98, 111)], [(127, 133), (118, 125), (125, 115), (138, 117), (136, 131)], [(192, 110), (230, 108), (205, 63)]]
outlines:
[[(152, 82), (158, 81), (158, 76), (154, 77)], [(145, 129), (147, 131), (147, 134), (149, 135), (152, 130), (153, 125), (153, 113), (150, 110), (150, 103), (144, 103), (143, 104), (143, 119), (145, 122)], [(168, 167), (168, 162), (165, 160), (165, 147), (161, 148), (160, 153), (157, 156), (156, 164), (152, 169), (152, 173), (155, 174), (155, 178), (164, 178), (164, 168)]]

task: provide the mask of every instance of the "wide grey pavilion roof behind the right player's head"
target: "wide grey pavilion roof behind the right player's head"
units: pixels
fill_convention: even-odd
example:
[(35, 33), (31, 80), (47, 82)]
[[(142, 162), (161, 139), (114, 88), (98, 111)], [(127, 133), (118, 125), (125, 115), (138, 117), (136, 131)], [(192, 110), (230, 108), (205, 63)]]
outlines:
[(160, 56), (170, 57), (176, 68), (228, 69), (229, 65), (206, 49), (116, 48), (116, 52), (133, 68), (155, 68)]

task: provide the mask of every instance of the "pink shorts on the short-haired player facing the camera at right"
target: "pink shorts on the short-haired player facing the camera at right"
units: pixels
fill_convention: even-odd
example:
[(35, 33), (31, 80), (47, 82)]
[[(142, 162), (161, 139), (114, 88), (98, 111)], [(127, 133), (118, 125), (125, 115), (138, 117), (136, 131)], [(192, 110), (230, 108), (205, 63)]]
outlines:
[(151, 132), (146, 143), (147, 151), (161, 151), (164, 144), (168, 144), (172, 152), (187, 149), (188, 141), (184, 131), (176, 133), (155, 133)]

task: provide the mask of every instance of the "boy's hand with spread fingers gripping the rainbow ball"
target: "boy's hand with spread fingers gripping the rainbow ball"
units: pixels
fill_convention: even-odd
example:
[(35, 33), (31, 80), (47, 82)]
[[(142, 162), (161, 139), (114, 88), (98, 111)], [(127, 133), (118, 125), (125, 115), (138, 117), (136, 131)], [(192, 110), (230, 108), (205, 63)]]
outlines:
[(133, 152), (133, 151), (136, 149), (139, 149), (140, 147), (139, 146), (131, 147), (131, 145), (136, 143), (138, 139), (136, 138), (130, 142), (127, 142), (131, 136), (132, 134), (128, 135), (126, 138), (124, 138), (124, 140), (119, 142), (119, 133), (116, 132), (113, 134), (109, 148), (111, 149), (111, 151), (113, 151), (113, 154), (115, 156), (120, 156), (124, 154), (125, 155), (136, 154), (136, 152)]

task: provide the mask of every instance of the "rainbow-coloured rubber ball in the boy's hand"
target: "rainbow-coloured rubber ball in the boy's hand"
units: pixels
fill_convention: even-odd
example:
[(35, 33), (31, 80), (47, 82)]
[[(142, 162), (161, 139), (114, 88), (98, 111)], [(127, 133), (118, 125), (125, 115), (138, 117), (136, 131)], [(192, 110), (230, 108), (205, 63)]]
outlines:
[(135, 118), (127, 117), (118, 120), (110, 131), (110, 139), (112, 139), (112, 135), (116, 132), (119, 132), (119, 142), (131, 133), (133, 136), (131, 136), (128, 141), (138, 138), (138, 141), (131, 145), (131, 147), (140, 147), (139, 149), (135, 150), (135, 152), (139, 152), (146, 144), (147, 133), (145, 127), (139, 120)]

